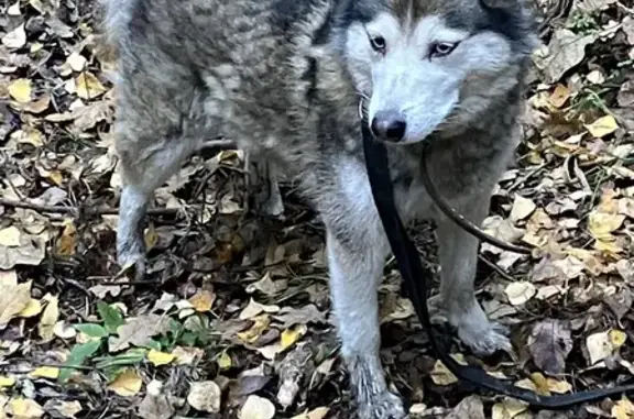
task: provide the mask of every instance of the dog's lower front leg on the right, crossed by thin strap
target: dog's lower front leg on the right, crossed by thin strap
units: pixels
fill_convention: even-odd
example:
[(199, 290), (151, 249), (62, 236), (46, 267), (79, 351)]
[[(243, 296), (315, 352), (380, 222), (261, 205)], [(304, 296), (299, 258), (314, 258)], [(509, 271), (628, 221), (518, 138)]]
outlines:
[[(455, 203), (468, 220), (480, 225), (489, 208), (489, 195), (472, 194)], [(449, 322), (458, 329), (460, 340), (478, 354), (489, 355), (511, 350), (506, 330), (492, 323), (476, 299), (474, 279), (478, 262), (478, 239), (451, 220), (438, 220), (440, 256), (440, 301)]]

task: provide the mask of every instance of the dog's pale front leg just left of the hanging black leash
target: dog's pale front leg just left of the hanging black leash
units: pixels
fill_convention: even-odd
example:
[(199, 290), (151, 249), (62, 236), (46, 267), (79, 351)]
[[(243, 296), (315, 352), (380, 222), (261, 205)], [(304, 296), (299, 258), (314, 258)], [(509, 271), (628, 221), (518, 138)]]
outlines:
[(323, 197), (332, 305), (341, 352), (362, 419), (405, 417), (385, 383), (379, 350), (378, 288), (389, 245), (360, 162), (336, 170), (336, 194)]

